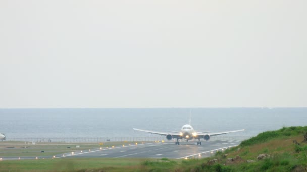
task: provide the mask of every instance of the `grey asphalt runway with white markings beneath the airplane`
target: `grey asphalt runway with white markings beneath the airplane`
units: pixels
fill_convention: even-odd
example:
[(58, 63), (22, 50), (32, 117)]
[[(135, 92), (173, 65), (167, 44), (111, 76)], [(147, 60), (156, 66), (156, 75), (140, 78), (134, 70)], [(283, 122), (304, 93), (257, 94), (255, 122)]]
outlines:
[(216, 151), (222, 151), (240, 144), (237, 140), (209, 141), (202, 142), (202, 145), (195, 145), (192, 142), (181, 142), (175, 145), (173, 142), (167, 143), (144, 143), (137, 145), (122, 145), (117, 147), (101, 147), (96, 150), (82, 150), (62, 155), (54, 158), (199, 158), (209, 157)]

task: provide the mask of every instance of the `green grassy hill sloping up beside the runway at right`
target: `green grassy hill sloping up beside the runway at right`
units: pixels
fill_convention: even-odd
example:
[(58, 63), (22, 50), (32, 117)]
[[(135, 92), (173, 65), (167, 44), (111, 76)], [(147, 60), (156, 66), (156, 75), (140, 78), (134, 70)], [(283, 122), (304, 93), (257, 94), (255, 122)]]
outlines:
[[(307, 126), (283, 127), (205, 159), (182, 162), (176, 171), (307, 171)], [(258, 159), (260, 154), (269, 155)], [(265, 156), (265, 155), (264, 155)]]

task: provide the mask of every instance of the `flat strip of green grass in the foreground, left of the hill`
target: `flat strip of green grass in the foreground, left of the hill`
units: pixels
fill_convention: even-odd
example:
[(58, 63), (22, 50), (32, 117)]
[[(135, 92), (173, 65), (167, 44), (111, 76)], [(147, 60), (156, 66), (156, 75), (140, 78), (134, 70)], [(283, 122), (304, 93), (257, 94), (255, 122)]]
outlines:
[(0, 171), (172, 171), (178, 160), (74, 158), (1, 161)]

